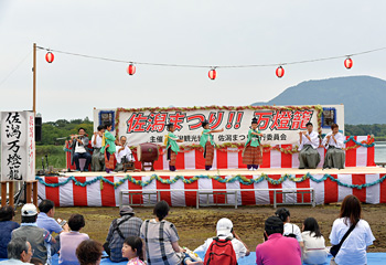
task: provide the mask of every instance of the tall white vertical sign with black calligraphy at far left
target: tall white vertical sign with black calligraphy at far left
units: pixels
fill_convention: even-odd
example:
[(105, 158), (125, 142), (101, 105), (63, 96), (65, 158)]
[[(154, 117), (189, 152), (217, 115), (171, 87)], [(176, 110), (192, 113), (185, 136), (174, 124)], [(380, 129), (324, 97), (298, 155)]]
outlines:
[(1, 113), (1, 181), (35, 177), (35, 123), (32, 112)]

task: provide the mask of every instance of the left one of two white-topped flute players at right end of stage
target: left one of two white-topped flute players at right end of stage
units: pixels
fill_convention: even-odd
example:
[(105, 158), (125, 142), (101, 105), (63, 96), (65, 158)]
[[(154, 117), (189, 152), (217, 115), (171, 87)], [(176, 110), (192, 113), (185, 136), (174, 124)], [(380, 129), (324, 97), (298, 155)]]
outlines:
[(308, 123), (305, 131), (299, 131), (299, 169), (315, 169), (320, 162), (318, 152), (319, 135), (313, 131), (313, 125)]

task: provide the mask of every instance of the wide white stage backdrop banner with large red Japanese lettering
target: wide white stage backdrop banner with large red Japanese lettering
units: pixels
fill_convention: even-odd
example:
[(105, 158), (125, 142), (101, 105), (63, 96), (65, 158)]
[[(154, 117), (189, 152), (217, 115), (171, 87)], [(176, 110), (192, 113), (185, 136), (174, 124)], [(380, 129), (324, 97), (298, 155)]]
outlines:
[(201, 121), (208, 120), (211, 129), (222, 129), (215, 134), (219, 147), (240, 146), (246, 141), (253, 117), (258, 120), (264, 134), (262, 142), (269, 146), (294, 145), (299, 131), (305, 130), (311, 121), (320, 135), (330, 131), (336, 123), (344, 132), (344, 106), (210, 106), (186, 108), (117, 108), (94, 109), (94, 130), (106, 121), (112, 121), (116, 135), (127, 136), (129, 146), (142, 142), (163, 145), (168, 134), (165, 125), (175, 126), (175, 135), (184, 140), (183, 147), (200, 142)]

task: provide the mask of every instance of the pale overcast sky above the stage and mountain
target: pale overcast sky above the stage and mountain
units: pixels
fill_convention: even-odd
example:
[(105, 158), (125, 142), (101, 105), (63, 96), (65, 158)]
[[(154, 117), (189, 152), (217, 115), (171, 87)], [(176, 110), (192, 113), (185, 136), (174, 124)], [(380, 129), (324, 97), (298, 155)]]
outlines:
[[(0, 0), (0, 110), (32, 109), (32, 45), (125, 61), (195, 65), (283, 63), (386, 46), (386, 1)], [(303, 81), (386, 78), (386, 51), (276, 67), (137, 65), (37, 52), (43, 121), (92, 118), (93, 108), (249, 105)], [(364, 92), (365, 93), (365, 92)]]

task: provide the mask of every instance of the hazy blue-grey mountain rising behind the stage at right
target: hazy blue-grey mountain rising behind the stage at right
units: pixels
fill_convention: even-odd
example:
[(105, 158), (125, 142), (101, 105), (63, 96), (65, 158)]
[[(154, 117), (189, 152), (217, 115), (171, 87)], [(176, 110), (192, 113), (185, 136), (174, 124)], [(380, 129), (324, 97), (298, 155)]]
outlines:
[(386, 124), (386, 81), (372, 76), (347, 76), (307, 81), (291, 86), (259, 105), (344, 105), (345, 124)]

